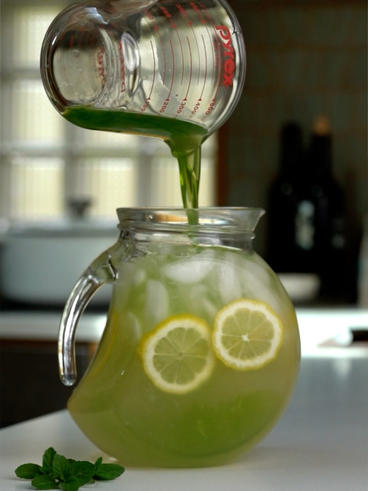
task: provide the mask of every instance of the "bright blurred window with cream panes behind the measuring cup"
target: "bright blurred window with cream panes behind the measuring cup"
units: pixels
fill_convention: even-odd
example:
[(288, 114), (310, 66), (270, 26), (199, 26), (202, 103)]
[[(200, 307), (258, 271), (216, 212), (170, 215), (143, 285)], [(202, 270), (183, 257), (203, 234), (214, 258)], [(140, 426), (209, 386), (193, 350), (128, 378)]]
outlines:
[[(182, 206), (178, 164), (164, 142), (78, 128), (49, 101), (41, 45), (67, 3), (1, 2), (1, 218), (61, 218), (71, 199), (90, 200), (95, 218), (114, 218), (123, 206)], [(202, 149), (201, 206), (215, 204), (215, 152), (214, 135)]]

